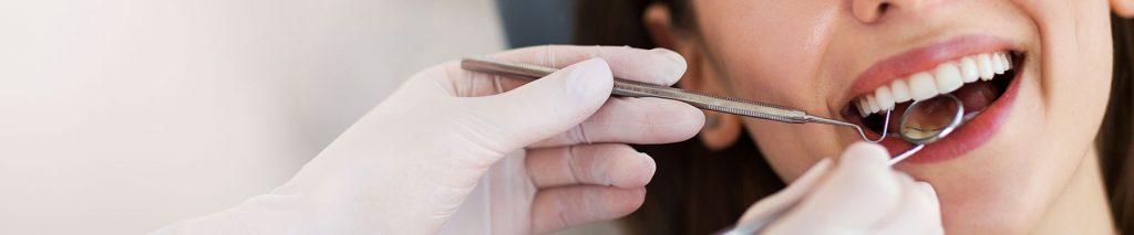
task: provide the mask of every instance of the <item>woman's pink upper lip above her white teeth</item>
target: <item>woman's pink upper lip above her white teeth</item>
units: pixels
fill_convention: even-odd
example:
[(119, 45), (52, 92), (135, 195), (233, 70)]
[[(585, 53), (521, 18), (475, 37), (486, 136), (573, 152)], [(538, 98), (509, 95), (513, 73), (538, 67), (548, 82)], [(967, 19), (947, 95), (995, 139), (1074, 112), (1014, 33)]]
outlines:
[(992, 36), (966, 35), (946, 40), (924, 47), (914, 49), (881, 60), (855, 79), (850, 90), (843, 97), (844, 107), (864, 94), (873, 93), (880, 86), (915, 72), (933, 69), (938, 64), (963, 56), (1007, 51), (1013, 43)]

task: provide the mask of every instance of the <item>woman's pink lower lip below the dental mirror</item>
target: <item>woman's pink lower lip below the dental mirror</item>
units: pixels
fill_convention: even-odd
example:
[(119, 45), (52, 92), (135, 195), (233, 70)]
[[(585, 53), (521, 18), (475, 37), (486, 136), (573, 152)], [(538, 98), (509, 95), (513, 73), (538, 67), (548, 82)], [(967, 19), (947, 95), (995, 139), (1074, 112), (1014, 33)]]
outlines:
[[(960, 125), (960, 128), (948, 137), (925, 145), (924, 149), (903, 160), (903, 163), (931, 164), (945, 162), (960, 157), (984, 145), (984, 142), (1000, 130), (1001, 124), (1007, 120), (1008, 114), (1012, 113), (1016, 95), (1019, 93), (1019, 84), (1024, 80), (1024, 70), (1023, 68), (1019, 69), (1016, 78), (1008, 85), (1008, 89), (992, 105), (985, 107), (981, 114)], [(913, 148), (913, 143), (906, 142), (902, 138), (886, 138), (886, 140), (879, 143), (886, 147), (891, 156)]]

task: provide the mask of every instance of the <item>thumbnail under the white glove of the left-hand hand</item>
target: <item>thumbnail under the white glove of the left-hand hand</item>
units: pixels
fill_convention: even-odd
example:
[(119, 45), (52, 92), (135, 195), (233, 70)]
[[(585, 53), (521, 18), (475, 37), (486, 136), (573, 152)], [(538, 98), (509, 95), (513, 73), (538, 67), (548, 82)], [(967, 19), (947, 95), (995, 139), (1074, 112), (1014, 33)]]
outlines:
[(607, 61), (595, 58), (569, 67), (567, 87), (578, 98), (593, 96), (610, 96), (613, 88), (613, 77)]

